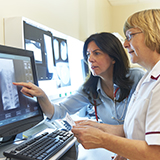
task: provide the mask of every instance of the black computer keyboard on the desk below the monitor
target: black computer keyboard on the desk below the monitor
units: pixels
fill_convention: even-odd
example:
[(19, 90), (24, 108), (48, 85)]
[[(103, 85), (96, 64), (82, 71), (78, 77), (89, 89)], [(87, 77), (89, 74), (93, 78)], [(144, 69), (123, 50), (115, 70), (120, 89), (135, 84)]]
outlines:
[(11, 150), (4, 151), (3, 154), (7, 158), (20, 160), (48, 160), (73, 138), (73, 133), (68, 131), (45, 132), (26, 140)]

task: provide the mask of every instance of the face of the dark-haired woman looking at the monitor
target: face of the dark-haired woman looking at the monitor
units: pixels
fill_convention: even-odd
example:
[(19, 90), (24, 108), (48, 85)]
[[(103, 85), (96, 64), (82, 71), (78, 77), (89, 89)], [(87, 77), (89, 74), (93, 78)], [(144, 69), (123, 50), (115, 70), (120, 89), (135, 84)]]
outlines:
[(111, 72), (113, 73), (115, 61), (108, 54), (100, 50), (94, 41), (88, 44), (87, 55), (89, 68), (94, 76), (105, 78)]

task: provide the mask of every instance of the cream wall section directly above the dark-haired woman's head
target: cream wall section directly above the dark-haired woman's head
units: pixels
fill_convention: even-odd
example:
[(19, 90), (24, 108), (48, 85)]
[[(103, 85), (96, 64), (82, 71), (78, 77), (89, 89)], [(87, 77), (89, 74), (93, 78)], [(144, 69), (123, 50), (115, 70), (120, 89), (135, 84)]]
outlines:
[(96, 32), (111, 32), (111, 9), (107, 0), (80, 0), (80, 39)]

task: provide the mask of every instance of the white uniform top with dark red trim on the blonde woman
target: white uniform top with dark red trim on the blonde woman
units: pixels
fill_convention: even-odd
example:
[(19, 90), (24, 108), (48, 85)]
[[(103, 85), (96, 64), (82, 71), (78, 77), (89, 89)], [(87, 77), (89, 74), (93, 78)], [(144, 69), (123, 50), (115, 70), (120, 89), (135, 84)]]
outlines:
[(128, 139), (160, 145), (160, 61), (139, 81), (124, 122)]

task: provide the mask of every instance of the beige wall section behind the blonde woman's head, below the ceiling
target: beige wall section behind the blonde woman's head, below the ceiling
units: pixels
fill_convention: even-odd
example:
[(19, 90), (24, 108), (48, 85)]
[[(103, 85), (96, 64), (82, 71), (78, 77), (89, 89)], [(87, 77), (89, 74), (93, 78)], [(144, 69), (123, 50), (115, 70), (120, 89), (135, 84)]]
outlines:
[(136, 3), (112, 7), (112, 31), (120, 33), (123, 37), (123, 25), (125, 20), (133, 13), (144, 10), (160, 8), (160, 2)]

